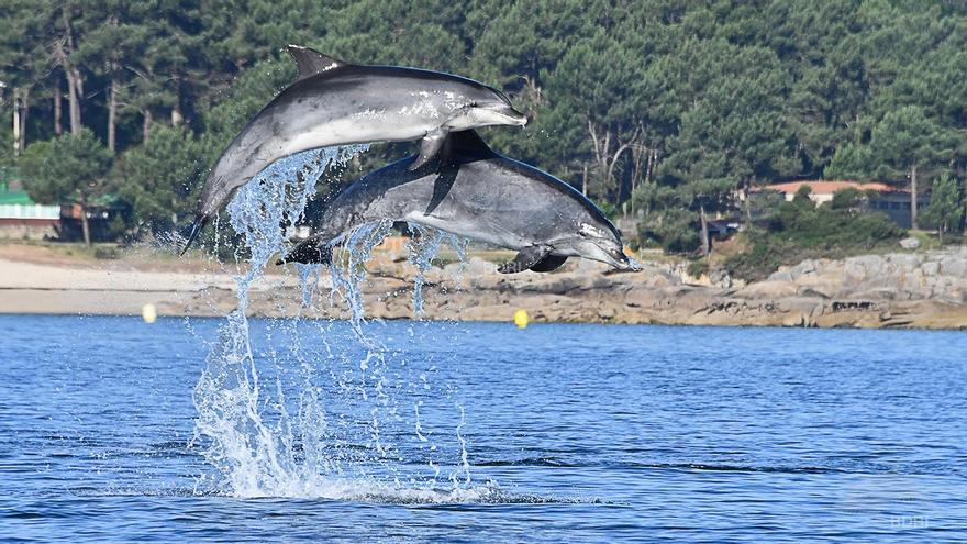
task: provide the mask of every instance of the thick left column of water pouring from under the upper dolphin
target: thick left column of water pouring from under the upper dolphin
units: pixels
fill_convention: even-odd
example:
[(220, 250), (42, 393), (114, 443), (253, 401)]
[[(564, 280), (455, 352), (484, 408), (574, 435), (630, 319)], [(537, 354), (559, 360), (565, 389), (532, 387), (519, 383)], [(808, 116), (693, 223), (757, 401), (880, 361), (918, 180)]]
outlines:
[[(365, 149), (356, 145), (287, 157), (246, 184), (229, 204), (232, 227), (251, 253), (248, 269), (236, 278), (238, 307), (220, 327), (220, 342), (213, 346), (194, 390), (196, 440), (207, 438), (204, 457), (221, 474), (218, 486), (226, 492), (270, 495), (292, 481), (311, 485), (316, 474), (314, 466), (308, 470), (314, 463), (303, 463), (297, 456), (281, 384), (277, 381), (275, 399), (262, 398), (246, 315), (248, 295), (271, 256), (284, 248), (282, 225), (302, 217), (316, 180), (332, 166), (344, 165)], [(241, 255), (236, 253), (236, 257)], [(305, 418), (299, 420), (304, 428), (299, 432), (318, 436), (324, 432), (325, 419), (313, 412), (311, 387), (309, 391), (309, 397), (300, 398), (300, 412), (304, 410)], [(274, 409), (275, 418), (267, 417), (266, 408)]]

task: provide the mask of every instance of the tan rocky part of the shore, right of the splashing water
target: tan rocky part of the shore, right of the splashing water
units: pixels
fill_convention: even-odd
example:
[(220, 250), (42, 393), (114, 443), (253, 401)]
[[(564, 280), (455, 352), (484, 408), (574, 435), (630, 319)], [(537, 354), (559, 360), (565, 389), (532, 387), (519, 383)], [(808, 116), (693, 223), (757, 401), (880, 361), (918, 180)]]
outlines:
[[(427, 274), (426, 317), (508, 320), (523, 308), (538, 322), (967, 327), (965, 251), (805, 260), (749, 285), (724, 275), (690, 278), (683, 265), (668, 264), (614, 274), (579, 262), (556, 274), (513, 277), (493, 274), (493, 264), (481, 259), (470, 259), (462, 275), (457, 268)], [(373, 271), (369, 314), (410, 317), (404, 267)]]

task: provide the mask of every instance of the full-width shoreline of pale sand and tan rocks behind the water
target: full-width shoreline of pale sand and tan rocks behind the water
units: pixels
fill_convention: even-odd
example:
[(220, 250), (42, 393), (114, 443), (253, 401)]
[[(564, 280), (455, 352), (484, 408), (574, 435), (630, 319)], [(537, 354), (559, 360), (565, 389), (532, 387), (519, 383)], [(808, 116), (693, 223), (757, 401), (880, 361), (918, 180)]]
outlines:
[[(384, 255), (367, 270), (367, 315), (412, 318), (413, 266)], [(235, 307), (225, 273), (78, 269), (4, 258), (0, 271), (0, 313), (137, 314), (153, 303), (162, 315), (224, 315)], [(340, 297), (330, 304), (331, 288), (323, 274), (304, 307), (292, 270), (270, 274), (254, 285), (249, 312), (344, 318)], [(648, 262), (636, 274), (577, 260), (552, 274), (504, 276), (475, 256), (429, 270), (423, 298), (423, 317), (438, 320), (508, 321), (524, 309), (533, 322), (964, 329), (967, 248), (805, 260), (748, 285), (724, 274), (691, 278), (683, 264)]]

